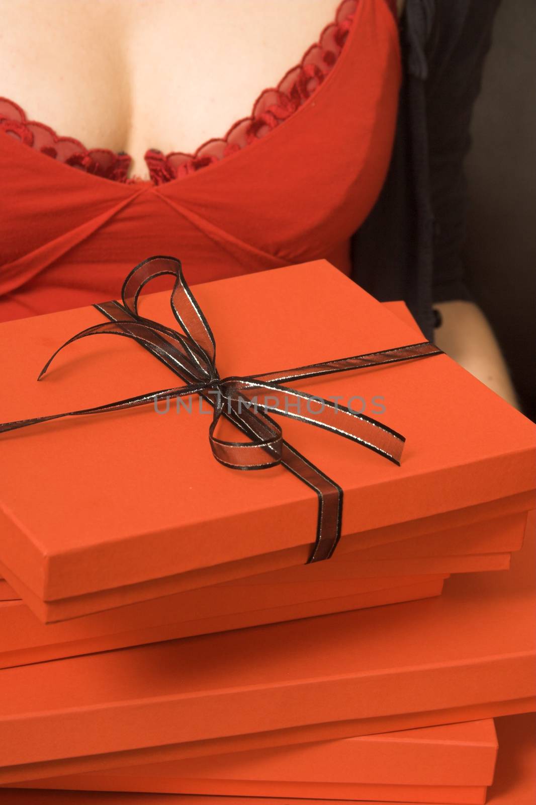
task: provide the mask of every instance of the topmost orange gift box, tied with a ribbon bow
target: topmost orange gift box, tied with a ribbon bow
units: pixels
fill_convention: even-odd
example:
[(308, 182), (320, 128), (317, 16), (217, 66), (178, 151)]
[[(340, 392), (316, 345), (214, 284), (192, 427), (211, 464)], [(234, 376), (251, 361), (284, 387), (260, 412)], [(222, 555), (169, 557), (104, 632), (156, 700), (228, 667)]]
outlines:
[[(173, 262), (159, 259), (147, 261), (152, 270)], [(260, 413), (252, 415), (246, 405), (241, 431), (223, 416), (212, 442), (214, 403), (221, 403), (217, 380), (198, 382), (200, 394), (193, 383), (186, 396), (162, 394), (158, 403), (152, 397), (183, 385), (170, 371), (169, 354), (176, 353), (159, 353), (171, 330), (149, 338), (143, 325), (151, 320), (179, 329), (170, 291), (144, 295), (143, 319), (123, 327), (135, 330), (152, 354), (126, 337), (81, 338), (56, 355), (40, 382), (52, 353), (85, 328), (105, 324), (113, 306), (0, 327), (0, 423), (148, 395), (142, 406), (0, 434), (0, 572), (34, 609), (39, 601), (80, 599), (83, 611), (98, 611), (305, 564), (322, 515), (333, 516), (331, 489), (344, 490), (344, 506), (330, 561), (465, 522), (471, 512), (498, 516), (501, 502), (505, 509), (530, 508), (534, 425), (446, 355), (398, 362), (401, 348), (421, 341), (414, 328), (325, 260), (194, 290), (199, 308), (188, 289), (175, 298), (179, 319), (194, 336), (183, 339), (183, 373), (210, 352), (206, 316), (218, 378), (241, 378), (233, 394), (247, 386), (244, 378), (259, 374), (287, 388), (274, 384), (268, 400), (271, 389), (254, 383)], [(128, 318), (118, 310), (120, 320)], [(108, 321), (106, 328), (118, 332), (122, 325)], [(298, 380), (283, 371), (385, 351), (391, 362), (383, 365), (365, 360), (365, 368), (306, 372)], [(233, 415), (236, 403), (228, 409)], [(305, 457), (302, 469), (311, 462), (320, 475), (305, 472), (303, 483), (282, 464), (259, 472), (230, 469), (275, 461), (277, 426), (268, 423), (256, 445), (248, 439), (249, 423), (266, 424), (262, 405), (282, 429), (283, 456), (291, 445)], [(280, 417), (274, 410), (283, 405), (288, 415)], [(357, 416), (344, 415), (344, 407)], [(321, 427), (304, 421), (315, 418)], [(323, 506), (312, 488), (320, 476), (328, 477)], [(329, 555), (321, 553), (316, 558)]]

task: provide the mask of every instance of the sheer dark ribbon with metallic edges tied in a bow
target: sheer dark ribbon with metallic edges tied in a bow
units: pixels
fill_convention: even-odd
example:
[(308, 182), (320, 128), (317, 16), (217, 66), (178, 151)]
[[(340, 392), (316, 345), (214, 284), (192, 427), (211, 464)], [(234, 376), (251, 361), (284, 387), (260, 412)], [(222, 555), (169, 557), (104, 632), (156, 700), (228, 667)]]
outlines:
[[(171, 291), (171, 310), (180, 325), (180, 331), (146, 319), (138, 313), (138, 297), (142, 288), (150, 279), (162, 275), (175, 277)], [(172, 257), (155, 256), (138, 263), (123, 283), (122, 303), (111, 301), (94, 307), (108, 321), (86, 328), (65, 341), (44, 365), (38, 380), (43, 378), (54, 357), (68, 344), (85, 336), (109, 334), (136, 341), (171, 369), (185, 385), (151, 391), (93, 408), (0, 423), (0, 433), (52, 419), (119, 411), (153, 402), (156, 405), (162, 399), (200, 394), (213, 408), (208, 438), (216, 460), (232, 469), (248, 470), (282, 464), (315, 491), (318, 497), (318, 518), (315, 545), (309, 562), (328, 559), (340, 539), (343, 491), (335, 481), (283, 439), (282, 428), (269, 412), (323, 427), (337, 436), (362, 444), (394, 464), (400, 464), (405, 440), (401, 434), (375, 419), (286, 384), (303, 378), (441, 354), (441, 350), (430, 341), (422, 341), (295, 369), (221, 378), (216, 369), (216, 341), (212, 330), (184, 279), (181, 262)], [(315, 411), (315, 406), (319, 403), (321, 409)], [(247, 441), (229, 441), (216, 436), (221, 417), (233, 423)]]

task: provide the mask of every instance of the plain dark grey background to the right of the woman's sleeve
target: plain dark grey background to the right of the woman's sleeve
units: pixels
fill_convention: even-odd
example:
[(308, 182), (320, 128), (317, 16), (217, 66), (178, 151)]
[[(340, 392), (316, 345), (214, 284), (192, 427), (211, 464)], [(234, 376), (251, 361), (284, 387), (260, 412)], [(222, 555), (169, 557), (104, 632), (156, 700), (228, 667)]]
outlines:
[(464, 264), (536, 420), (535, 52), (536, 2), (502, 0), (472, 119)]

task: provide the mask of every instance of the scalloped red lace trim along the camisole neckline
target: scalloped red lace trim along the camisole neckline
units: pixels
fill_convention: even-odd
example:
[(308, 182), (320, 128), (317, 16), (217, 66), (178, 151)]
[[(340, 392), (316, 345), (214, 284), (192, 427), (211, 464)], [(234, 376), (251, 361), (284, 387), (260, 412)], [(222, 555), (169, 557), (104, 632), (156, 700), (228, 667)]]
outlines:
[[(301, 62), (287, 71), (277, 88), (264, 89), (254, 102), (252, 114), (234, 123), (223, 138), (207, 140), (194, 154), (172, 151), (164, 155), (157, 149), (148, 149), (145, 160), (151, 182), (164, 184), (199, 171), (261, 139), (290, 118), (331, 72), (348, 37), (357, 2), (341, 0), (335, 22), (324, 27), (320, 39), (308, 48)], [(396, 0), (386, 2), (396, 16)], [(81, 171), (126, 184), (140, 181), (127, 178), (130, 155), (106, 148), (89, 149), (75, 138), (59, 137), (50, 126), (27, 120), (23, 109), (4, 97), (0, 97), (0, 130)]]

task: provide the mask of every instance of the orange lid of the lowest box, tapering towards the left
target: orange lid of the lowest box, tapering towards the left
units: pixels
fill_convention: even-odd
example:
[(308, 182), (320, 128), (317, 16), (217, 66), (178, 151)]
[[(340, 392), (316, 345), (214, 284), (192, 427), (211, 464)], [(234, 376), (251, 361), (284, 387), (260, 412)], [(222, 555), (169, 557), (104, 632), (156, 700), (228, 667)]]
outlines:
[[(402, 732), (381, 733), (340, 741), (279, 746), (183, 761), (150, 763), (45, 780), (48, 788), (130, 790), (136, 779), (179, 784), (181, 780), (257, 782), (361, 783), (394, 786), (488, 786), (493, 782), (497, 735), (493, 719), (466, 721)], [(32, 783), (28, 783), (31, 785)], [(122, 789), (122, 784), (125, 786)], [(39, 788), (39, 785), (35, 785)], [(226, 793), (222, 790), (221, 793)]]

